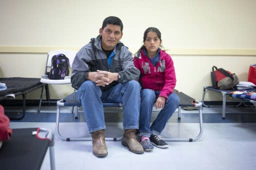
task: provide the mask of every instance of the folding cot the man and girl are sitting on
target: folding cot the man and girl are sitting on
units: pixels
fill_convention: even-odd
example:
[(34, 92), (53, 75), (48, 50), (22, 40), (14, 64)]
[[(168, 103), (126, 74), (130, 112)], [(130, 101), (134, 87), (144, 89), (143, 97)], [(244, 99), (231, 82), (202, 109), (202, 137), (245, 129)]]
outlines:
[[(180, 120), (180, 110), (181, 107), (196, 107), (198, 108), (198, 116), (199, 116), (199, 134), (194, 137), (194, 138), (164, 138), (165, 141), (187, 141), (187, 142), (192, 142), (196, 141), (199, 139), (202, 135), (202, 104), (199, 101), (196, 101), (195, 99), (189, 97), (188, 95), (178, 92), (175, 90), (177, 95), (179, 96), (179, 106), (178, 106), (178, 120)], [(78, 101), (76, 91), (70, 94), (69, 96), (57, 101), (57, 112), (56, 112), (56, 133), (57, 135), (65, 141), (91, 141), (91, 138), (69, 138), (69, 137), (64, 137), (60, 134), (59, 132), (59, 117), (60, 117), (60, 108), (63, 106), (75, 106), (76, 109), (74, 109), (74, 117), (77, 117), (77, 107), (80, 107), (80, 103)], [(122, 107), (122, 104), (120, 103), (103, 103), (104, 107)], [(114, 138), (105, 138), (106, 141), (118, 141), (121, 140), (122, 137), (114, 137)]]

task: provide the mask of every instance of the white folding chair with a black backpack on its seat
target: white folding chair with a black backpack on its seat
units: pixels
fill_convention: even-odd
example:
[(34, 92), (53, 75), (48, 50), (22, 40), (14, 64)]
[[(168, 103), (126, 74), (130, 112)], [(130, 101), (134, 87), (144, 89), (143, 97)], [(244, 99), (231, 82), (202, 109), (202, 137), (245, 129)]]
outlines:
[[(64, 54), (69, 59), (69, 69), (71, 69), (74, 57), (76, 55), (76, 52), (77, 51), (67, 50), (67, 49), (53, 50), (53, 51), (48, 52), (47, 60), (46, 60), (46, 66), (45, 66), (45, 70), (44, 70), (44, 75), (42, 75), (42, 77), (40, 79), (40, 82), (43, 83), (43, 87), (42, 87), (42, 90), (41, 90), (38, 112), (40, 112), (40, 107), (41, 107), (42, 102), (51, 103), (48, 84), (61, 85), (61, 84), (70, 84), (71, 83), (70, 76), (65, 77), (65, 79), (63, 79), (63, 80), (50, 80), (50, 79), (47, 78), (47, 76), (46, 76), (47, 72), (51, 68), (51, 58), (52, 58), (52, 56), (56, 55), (56, 54), (60, 54), (60, 53)], [(42, 101), (43, 89), (45, 89), (46, 101)]]

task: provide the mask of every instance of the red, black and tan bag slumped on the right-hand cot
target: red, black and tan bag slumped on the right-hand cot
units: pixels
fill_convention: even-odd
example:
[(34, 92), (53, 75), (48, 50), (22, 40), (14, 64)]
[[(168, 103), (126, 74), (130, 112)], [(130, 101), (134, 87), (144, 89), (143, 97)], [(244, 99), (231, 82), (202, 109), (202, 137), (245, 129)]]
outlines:
[(214, 89), (233, 89), (239, 83), (239, 79), (234, 73), (224, 70), (223, 68), (217, 68), (216, 66), (212, 67), (210, 77)]

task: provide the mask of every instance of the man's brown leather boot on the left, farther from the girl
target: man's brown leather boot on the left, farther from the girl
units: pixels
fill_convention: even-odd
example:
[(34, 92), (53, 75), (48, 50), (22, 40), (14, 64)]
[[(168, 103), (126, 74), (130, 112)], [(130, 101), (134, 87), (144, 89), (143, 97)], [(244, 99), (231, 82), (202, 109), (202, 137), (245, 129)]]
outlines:
[(106, 157), (107, 149), (105, 143), (104, 130), (91, 133), (92, 138), (92, 152), (96, 157)]

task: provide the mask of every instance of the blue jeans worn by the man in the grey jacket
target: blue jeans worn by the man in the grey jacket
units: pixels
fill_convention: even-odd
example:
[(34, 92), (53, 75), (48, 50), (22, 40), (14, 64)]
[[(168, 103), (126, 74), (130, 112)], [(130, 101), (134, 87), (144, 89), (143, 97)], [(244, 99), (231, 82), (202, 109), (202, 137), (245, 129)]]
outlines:
[(87, 80), (77, 90), (89, 133), (105, 129), (103, 104), (122, 103), (123, 129), (138, 129), (140, 85), (135, 80), (118, 83), (109, 90), (101, 91)]

